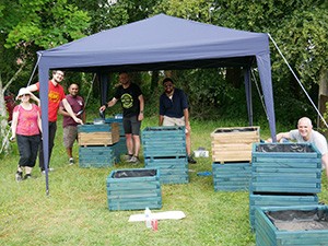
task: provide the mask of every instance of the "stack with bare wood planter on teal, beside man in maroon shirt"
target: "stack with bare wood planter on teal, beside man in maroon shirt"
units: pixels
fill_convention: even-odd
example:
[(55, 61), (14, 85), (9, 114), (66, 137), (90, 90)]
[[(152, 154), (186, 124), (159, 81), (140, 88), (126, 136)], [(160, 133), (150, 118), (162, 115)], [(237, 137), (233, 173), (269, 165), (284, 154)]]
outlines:
[(115, 153), (115, 144), (119, 141), (117, 122), (79, 125), (78, 138), (80, 167), (113, 166), (118, 162)]

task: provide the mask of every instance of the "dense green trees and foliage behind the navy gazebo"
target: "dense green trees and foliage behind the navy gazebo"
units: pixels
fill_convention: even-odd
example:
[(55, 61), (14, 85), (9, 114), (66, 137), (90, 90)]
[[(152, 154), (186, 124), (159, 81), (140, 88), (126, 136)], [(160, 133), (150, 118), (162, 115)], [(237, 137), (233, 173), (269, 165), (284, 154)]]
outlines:
[[(230, 28), (269, 33), (317, 104), (319, 87), (323, 94), (328, 94), (327, 9), (327, 1), (324, 0), (2, 0), (0, 78), (3, 85), (8, 85), (19, 68), (23, 67), (8, 87), (8, 91), (16, 93), (30, 81), (37, 59), (36, 50), (52, 48), (104, 30), (165, 13)], [(272, 42), (270, 45), (277, 121), (294, 125), (301, 116), (306, 115), (316, 122), (316, 112), (308, 98)], [(23, 63), (17, 65), (17, 58)], [(86, 96), (92, 77), (93, 74), (68, 73), (66, 81), (67, 84), (78, 82), (83, 85), (81, 93)], [(151, 105), (147, 110), (152, 116), (157, 114), (155, 106), (163, 77), (164, 71), (145, 71), (136, 73), (133, 78), (141, 85), (148, 105)], [(187, 92), (194, 117), (246, 117), (245, 90), (239, 68), (173, 71), (172, 77)], [(116, 83), (116, 74), (112, 79), (110, 84)], [(31, 81), (37, 81), (37, 73), (34, 73)], [(94, 107), (99, 106), (96, 81), (90, 99), (90, 105)], [(266, 121), (261, 92), (257, 92), (255, 81), (253, 90), (254, 116), (256, 120)], [(108, 97), (113, 95), (110, 93), (109, 90)]]

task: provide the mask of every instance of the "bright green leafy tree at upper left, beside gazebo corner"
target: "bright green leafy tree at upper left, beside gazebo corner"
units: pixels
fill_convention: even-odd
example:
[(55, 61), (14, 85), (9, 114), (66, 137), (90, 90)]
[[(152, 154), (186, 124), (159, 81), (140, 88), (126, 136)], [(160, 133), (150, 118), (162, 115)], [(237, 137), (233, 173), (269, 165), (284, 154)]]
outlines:
[[(83, 37), (90, 16), (67, 0), (3, 0), (0, 17), (0, 63), (3, 65), (1, 78), (4, 78), (0, 81), (0, 127), (3, 136), (8, 126), (4, 90), (22, 75), (24, 68), (33, 67), (36, 50)], [(22, 62), (14, 65), (13, 60)]]

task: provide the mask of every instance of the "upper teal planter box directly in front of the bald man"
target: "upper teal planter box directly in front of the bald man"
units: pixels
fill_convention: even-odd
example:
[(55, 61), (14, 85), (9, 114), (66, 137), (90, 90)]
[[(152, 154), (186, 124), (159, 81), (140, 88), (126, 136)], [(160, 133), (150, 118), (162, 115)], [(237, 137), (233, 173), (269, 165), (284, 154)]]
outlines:
[(253, 192), (317, 194), (321, 190), (321, 154), (306, 143), (256, 143)]

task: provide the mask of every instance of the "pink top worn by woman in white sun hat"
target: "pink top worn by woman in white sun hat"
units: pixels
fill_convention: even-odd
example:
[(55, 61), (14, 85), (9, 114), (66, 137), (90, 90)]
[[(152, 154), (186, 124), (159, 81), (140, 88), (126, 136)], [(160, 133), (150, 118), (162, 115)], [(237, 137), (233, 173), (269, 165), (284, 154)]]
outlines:
[(19, 112), (17, 134), (34, 136), (40, 133), (37, 125), (37, 112), (39, 113), (38, 106), (32, 104), (32, 109), (26, 110), (21, 105), (17, 105), (14, 107), (13, 112)]

